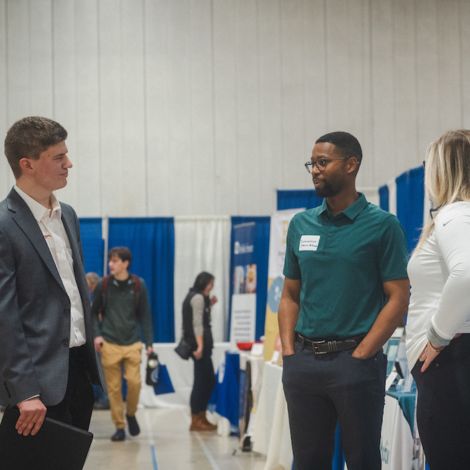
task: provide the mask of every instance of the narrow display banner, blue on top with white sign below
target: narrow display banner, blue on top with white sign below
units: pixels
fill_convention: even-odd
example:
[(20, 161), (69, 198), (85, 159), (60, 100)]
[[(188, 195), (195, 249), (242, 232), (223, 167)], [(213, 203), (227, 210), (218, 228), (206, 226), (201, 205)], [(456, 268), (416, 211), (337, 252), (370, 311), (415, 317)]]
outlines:
[(255, 340), (256, 329), (256, 224), (233, 226), (232, 317), (230, 341)]

